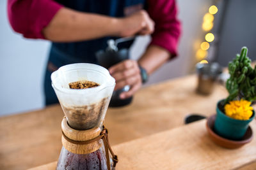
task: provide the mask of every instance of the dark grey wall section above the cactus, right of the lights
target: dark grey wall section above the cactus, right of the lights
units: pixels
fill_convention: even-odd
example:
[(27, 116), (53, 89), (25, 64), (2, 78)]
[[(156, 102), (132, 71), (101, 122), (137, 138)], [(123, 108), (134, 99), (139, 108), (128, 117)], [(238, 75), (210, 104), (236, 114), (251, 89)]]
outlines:
[(228, 0), (216, 56), (222, 66), (227, 66), (242, 46), (247, 46), (248, 56), (256, 60), (255, 8), (255, 0)]

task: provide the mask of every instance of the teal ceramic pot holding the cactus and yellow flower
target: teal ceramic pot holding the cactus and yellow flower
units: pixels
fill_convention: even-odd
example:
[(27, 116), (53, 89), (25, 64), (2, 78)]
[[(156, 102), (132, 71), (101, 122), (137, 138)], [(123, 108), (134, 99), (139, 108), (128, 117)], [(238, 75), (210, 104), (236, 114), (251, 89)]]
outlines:
[(243, 138), (249, 123), (255, 117), (255, 111), (253, 110), (253, 115), (249, 120), (236, 120), (228, 117), (220, 110), (223, 103), (224, 100), (219, 101), (216, 107), (217, 115), (214, 123), (214, 131), (223, 138), (239, 140)]

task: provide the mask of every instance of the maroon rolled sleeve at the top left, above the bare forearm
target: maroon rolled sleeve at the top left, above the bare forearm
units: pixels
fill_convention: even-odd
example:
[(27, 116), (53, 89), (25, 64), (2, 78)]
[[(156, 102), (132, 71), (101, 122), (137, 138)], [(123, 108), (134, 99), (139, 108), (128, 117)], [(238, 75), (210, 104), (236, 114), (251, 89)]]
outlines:
[(25, 38), (45, 39), (42, 29), (61, 7), (52, 0), (8, 0), (8, 19), (13, 30)]

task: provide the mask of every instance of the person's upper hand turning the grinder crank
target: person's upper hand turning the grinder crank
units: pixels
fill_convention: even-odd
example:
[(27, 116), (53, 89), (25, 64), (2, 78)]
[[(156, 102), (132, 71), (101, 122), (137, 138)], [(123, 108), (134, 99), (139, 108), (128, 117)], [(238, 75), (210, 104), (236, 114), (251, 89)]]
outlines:
[(133, 36), (135, 34), (152, 34), (154, 32), (154, 21), (148, 16), (147, 11), (140, 10), (129, 17), (121, 18), (121, 37)]

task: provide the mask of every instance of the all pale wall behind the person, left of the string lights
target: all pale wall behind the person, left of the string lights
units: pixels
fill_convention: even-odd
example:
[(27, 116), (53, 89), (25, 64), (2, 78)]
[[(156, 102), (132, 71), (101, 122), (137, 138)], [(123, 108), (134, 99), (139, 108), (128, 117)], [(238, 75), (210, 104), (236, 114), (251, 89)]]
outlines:
[[(147, 85), (187, 74), (196, 41), (202, 38), (202, 16), (211, 1), (180, 0), (178, 4), (183, 25), (179, 57), (154, 73)], [(50, 43), (14, 33), (6, 17), (6, 0), (0, 1), (0, 23), (0, 116), (43, 108), (42, 82)], [(148, 39), (138, 39), (133, 59), (140, 56)]]

